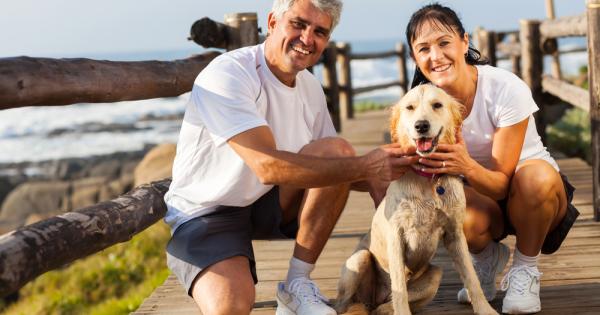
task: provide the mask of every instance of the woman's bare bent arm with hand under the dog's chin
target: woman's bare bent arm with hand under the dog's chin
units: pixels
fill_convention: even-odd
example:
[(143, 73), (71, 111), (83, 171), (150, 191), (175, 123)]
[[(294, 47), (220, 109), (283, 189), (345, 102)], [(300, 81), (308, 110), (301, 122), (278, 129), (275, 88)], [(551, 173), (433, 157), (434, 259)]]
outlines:
[(425, 165), (425, 172), (463, 175), (478, 192), (494, 200), (503, 199), (508, 194), (510, 179), (519, 162), (528, 122), (529, 117), (515, 125), (496, 129), (490, 169), (469, 156), (460, 132), (456, 144), (440, 144), (437, 152), (419, 162)]

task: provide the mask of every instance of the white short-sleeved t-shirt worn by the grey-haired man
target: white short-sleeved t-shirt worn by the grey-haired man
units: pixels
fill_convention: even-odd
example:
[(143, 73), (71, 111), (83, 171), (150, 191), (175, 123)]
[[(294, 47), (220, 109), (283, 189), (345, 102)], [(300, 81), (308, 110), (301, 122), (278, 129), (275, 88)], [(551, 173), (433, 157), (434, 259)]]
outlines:
[(227, 143), (258, 126), (269, 126), (277, 149), (289, 152), (336, 135), (319, 81), (304, 70), (295, 87), (284, 85), (266, 64), (264, 44), (215, 58), (194, 82), (165, 195), (172, 231), (217, 206), (250, 205), (273, 187)]

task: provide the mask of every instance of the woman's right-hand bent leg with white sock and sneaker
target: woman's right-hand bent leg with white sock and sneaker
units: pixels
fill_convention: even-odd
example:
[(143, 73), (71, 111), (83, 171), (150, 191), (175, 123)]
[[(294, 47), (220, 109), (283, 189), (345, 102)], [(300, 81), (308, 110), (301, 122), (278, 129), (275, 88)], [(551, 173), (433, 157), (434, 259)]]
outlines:
[(517, 244), (513, 265), (502, 280), (502, 312), (541, 310), (537, 258), (544, 240), (566, 215), (567, 197), (560, 174), (546, 161), (529, 160), (517, 167), (508, 196), (508, 217)]

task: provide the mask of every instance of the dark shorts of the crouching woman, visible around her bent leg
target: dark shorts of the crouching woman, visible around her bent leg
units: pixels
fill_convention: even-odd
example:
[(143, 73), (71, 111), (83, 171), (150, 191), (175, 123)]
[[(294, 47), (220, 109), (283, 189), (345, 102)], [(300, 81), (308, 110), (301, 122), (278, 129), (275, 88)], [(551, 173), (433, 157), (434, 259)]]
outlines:
[[(569, 183), (567, 177), (560, 173), (560, 177), (563, 181), (563, 185), (565, 187), (565, 193), (567, 195), (567, 212), (565, 213), (562, 221), (554, 228), (554, 230), (550, 231), (548, 235), (546, 235), (546, 239), (544, 239), (544, 244), (542, 245), (542, 254), (552, 254), (560, 248), (560, 245), (567, 237), (569, 230), (575, 223), (575, 219), (579, 216), (579, 211), (573, 204), (573, 193), (575, 192), (575, 187)], [(508, 217), (508, 210), (506, 208), (508, 204), (508, 199), (503, 199), (498, 201), (498, 205), (500, 209), (502, 209), (502, 213), (504, 216), (504, 231), (502, 235), (496, 239), (496, 241), (500, 241), (509, 234), (515, 235), (515, 227), (510, 223), (510, 218)]]

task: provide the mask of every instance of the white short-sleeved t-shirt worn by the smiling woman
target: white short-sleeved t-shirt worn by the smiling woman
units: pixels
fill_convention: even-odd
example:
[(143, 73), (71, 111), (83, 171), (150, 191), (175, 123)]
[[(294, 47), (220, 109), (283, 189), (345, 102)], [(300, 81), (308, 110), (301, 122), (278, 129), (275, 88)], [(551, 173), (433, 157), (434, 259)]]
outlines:
[(496, 128), (512, 126), (529, 117), (519, 163), (529, 159), (542, 159), (558, 171), (556, 161), (537, 133), (532, 114), (538, 110), (538, 106), (527, 84), (512, 72), (492, 66), (477, 66), (477, 73), (473, 108), (463, 121), (462, 129), (471, 157), (490, 168)]

